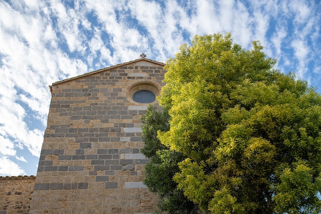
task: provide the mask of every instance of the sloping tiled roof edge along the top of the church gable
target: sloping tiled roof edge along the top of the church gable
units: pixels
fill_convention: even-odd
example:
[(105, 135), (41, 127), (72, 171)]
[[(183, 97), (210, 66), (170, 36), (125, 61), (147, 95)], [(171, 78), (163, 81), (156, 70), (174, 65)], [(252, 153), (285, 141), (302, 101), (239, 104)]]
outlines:
[(129, 65), (129, 64), (136, 63), (136, 62), (141, 62), (141, 61), (146, 61), (146, 62), (158, 64), (159, 66), (162, 66), (162, 67), (165, 66), (164, 63), (160, 63), (160, 62), (157, 62), (157, 61), (154, 61), (154, 60), (146, 59), (143, 56), (141, 59), (129, 61), (127, 63), (122, 63), (122, 64), (114, 65), (114, 66), (111, 66), (111, 67), (106, 67), (106, 68), (99, 69), (99, 70), (96, 70), (96, 71), (91, 71), (89, 73), (85, 73), (85, 74), (82, 74), (82, 75), (74, 76), (74, 77), (71, 77), (71, 78), (66, 79), (66, 80), (57, 81), (57, 82), (53, 83), (51, 86), (49, 86), (50, 87), (50, 91), (52, 92), (52, 86), (60, 84), (60, 83), (65, 83), (65, 82), (68, 82), (68, 81), (71, 81), (71, 80), (75, 80), (75, 79), (78, 79), (78, 78), (81, 78), (81, 77), (89, 76), (89, 75), (92, 75), (92, 74), (96, 74), (96, 73), (99, 73), (99, 72), (107, 71), (107, 70), (110, 70), (110, 69), (126, 66), (126, 65)]

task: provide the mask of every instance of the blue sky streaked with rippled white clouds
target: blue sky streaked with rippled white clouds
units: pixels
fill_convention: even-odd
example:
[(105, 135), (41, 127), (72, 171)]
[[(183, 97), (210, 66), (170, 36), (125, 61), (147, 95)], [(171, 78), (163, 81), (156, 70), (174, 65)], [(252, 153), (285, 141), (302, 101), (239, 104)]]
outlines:
[(261, 41), (321, 92), (321, 3), (304, 0), (0, 0), (0, 176), (35, 175), (49, 85), (144, 52), (166, 62), (195, 34)]

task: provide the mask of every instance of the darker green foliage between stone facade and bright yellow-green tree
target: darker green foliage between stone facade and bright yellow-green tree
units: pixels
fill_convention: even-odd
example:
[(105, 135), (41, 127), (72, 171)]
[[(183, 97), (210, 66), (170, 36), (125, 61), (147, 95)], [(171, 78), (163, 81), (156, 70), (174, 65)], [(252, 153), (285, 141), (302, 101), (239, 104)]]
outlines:
[(185, 157), (180, 152), (170, 151), (157, 139), (157, 131), (169, 130), (169, 114), (157, 111), (149, 106), (142, 116), (142, 134), (145, 143), (142, 153), (151, 159), (145, 167), (145, 181), (149, 190), (157, 193), (159, 208), (168, 214), (196, 214), (198, 206), (188, 200), (181, 189), (173, 181), (179, 171), (178, 163)]

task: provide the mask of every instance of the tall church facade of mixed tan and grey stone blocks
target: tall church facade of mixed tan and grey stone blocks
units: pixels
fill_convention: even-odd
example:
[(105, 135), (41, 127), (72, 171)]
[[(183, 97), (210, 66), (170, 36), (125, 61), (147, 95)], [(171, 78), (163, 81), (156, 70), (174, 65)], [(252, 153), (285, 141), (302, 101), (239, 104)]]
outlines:
[[(52, 84), (31, 202), (40, 213), (152, 213), (143, 185), (138, 90), (159, 93), (164, 64), (138, 59)], [(157, 101), (151, 103), (157, 105)]]

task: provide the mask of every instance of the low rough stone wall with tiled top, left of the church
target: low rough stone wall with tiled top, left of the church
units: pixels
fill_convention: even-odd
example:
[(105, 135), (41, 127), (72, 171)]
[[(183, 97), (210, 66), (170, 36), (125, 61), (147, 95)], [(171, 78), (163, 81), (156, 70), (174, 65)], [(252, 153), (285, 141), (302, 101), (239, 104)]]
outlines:
[(0, 214), (27, 214), (34, 176), (0, 177)]

